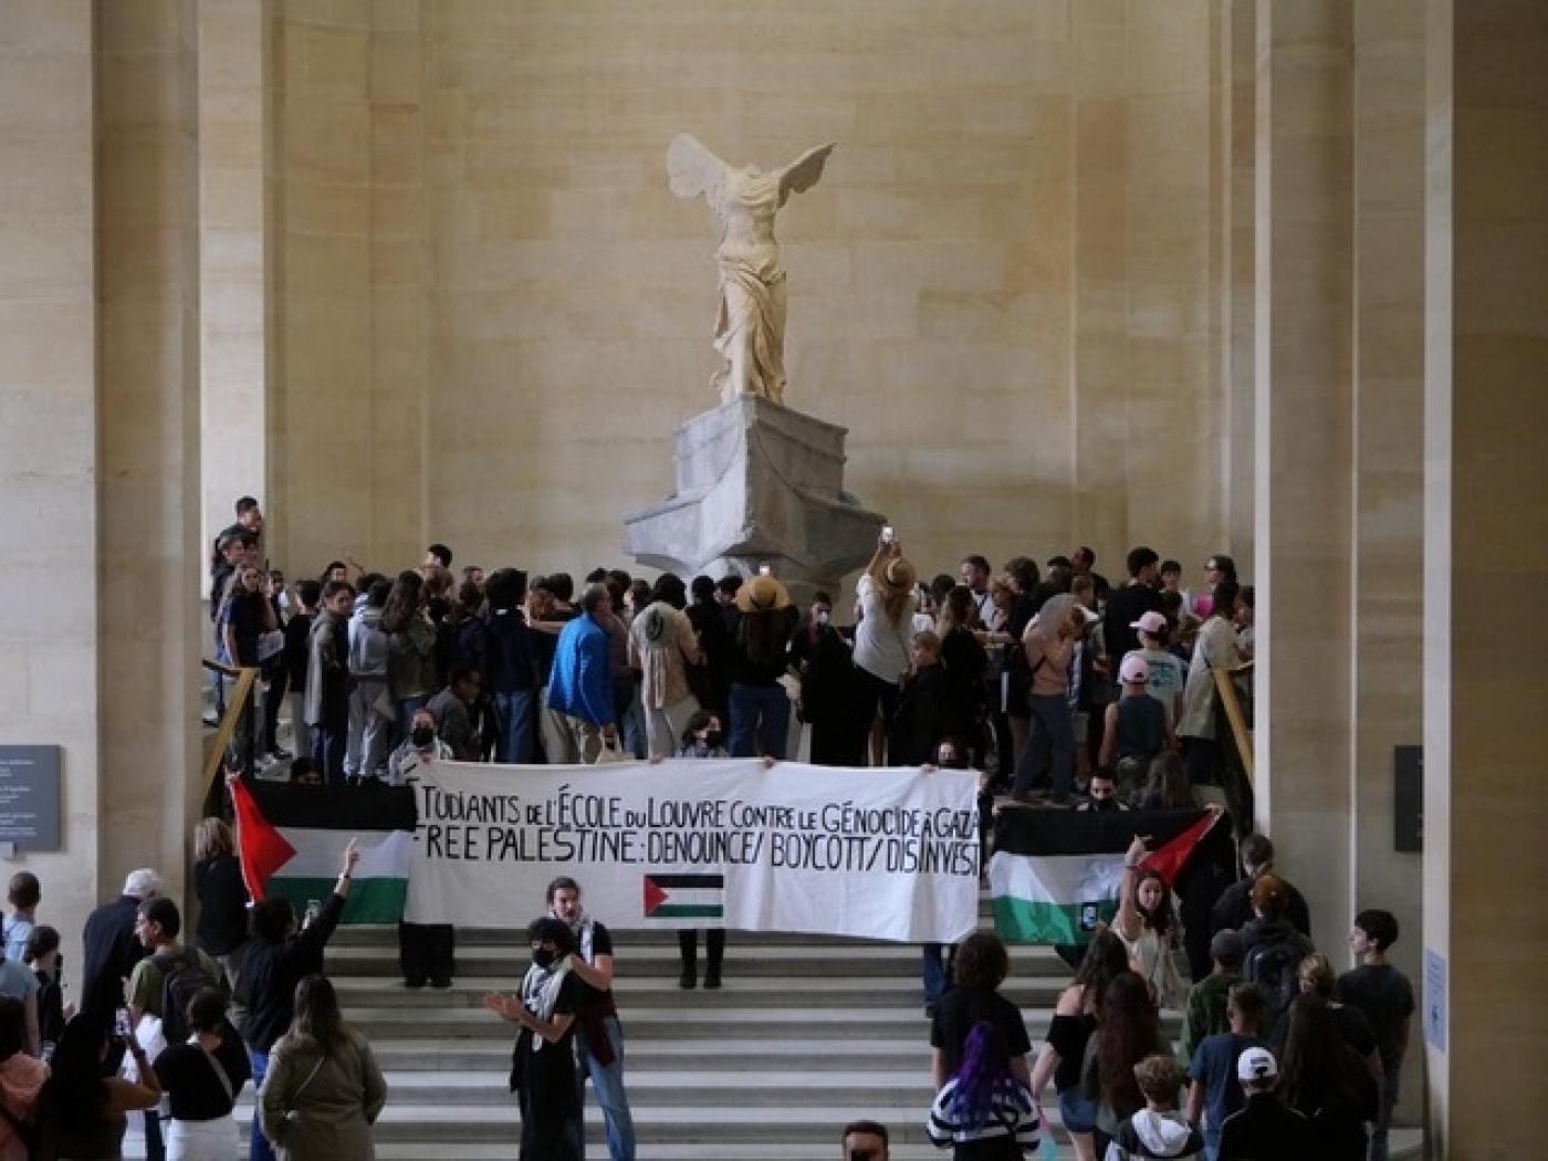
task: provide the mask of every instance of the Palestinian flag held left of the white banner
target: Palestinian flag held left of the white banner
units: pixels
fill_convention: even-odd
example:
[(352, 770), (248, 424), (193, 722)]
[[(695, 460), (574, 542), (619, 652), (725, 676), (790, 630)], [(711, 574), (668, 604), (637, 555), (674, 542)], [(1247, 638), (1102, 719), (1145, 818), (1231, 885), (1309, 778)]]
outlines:
[(409, 898), (416, 813), (409, 788), (291, 786), (248, 782), (232, 786), (241, 878), (254, 899), (283, 895), (300, 915), (325, 901), (356, 839), (354, 867), (342, 923), (398, 923)]

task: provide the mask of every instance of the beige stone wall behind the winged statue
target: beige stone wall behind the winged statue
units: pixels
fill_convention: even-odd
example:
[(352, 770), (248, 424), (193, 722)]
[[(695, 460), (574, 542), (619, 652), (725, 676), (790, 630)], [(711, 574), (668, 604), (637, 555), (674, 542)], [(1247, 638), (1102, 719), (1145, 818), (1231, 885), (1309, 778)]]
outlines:
[(1231, 548), (1212, 11), (271, 5), (276, 551), (619, 559), (714, 404), (683, 130), (839, 142), (780, 220), (788, 398), (923, 565)]

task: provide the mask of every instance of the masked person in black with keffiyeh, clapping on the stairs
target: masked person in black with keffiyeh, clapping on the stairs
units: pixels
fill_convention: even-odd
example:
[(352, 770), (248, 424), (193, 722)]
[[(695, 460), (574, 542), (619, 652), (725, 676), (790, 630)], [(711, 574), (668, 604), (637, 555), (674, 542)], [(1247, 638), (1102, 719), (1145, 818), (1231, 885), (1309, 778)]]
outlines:
[(519, 995), (489, 992), (485, 1008), (520, 1025), (511, 1091), (522, 1110), (520, 1161), (580, 1161), (574, 1125), (582, 1108), (576, 1076), (576, 1011), (585, 983), (574, 972), (570, 924), (545, 915), (526, 929), (533, 963)]

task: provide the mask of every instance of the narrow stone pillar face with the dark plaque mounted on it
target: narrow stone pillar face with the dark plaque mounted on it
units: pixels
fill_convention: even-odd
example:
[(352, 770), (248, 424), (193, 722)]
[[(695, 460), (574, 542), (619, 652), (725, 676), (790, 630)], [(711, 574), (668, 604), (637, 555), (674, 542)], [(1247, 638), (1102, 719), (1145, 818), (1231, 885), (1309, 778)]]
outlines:
[[(1393, 836), (1393, 748), (1423, 740), (1424, 12), (1354, 8), (1354, 399), (1350, 644), (1351, 898), (1406, 932), (1420, 966), (1420, 856)], [(1342, 963), (1341, 947), (1327, 949)], [(1412, 1070), (1410, 1070), (1412, 1071)], [(1412, 1084), (1409, 1091), (1421, 1087)], [(1420, 1119), (1416, 1102), (1402, 1113)]]

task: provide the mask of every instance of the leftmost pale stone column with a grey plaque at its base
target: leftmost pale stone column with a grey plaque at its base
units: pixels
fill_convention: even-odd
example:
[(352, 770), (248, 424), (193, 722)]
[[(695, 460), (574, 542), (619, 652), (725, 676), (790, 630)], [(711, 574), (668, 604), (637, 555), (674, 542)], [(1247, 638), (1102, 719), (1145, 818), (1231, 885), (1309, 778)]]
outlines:
[(77, 960), (101, 833), (91, 9), (8, 0), (0, 28), (0, 741), (63, 748), (63, 850), (0, 875), (42, 879)]

